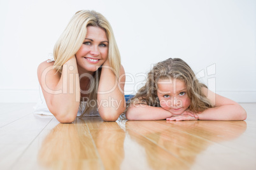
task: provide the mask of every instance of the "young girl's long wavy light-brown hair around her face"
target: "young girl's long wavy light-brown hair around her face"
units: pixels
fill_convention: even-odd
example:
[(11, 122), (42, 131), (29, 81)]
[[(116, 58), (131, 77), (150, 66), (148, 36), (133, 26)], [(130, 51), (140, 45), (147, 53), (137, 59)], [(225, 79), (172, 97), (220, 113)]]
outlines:
[[(159, 79), (170, 78), (185, 82), (187, 94), (191, 101), (188, 110), (192, 112), (203, 112), (207, 108), (213, 107), (202, 91), (202, 87), (207, 88), (207, 86), (198, 81), (188, 64), (180, 58), (169, 58), (157, 63), (150, 70), (145, 86), (140, 88), (136, 95), (128, 101), (127, 108), (132, 104), (138, 103), (160, 107), (159, 98), (157, 97), (157, 82)], [(125, 113), (127, 112), (127, 108)]]

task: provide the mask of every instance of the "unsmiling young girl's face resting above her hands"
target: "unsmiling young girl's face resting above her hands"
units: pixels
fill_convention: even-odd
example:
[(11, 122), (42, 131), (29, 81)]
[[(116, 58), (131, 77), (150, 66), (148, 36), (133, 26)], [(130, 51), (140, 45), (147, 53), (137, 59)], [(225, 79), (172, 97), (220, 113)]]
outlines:
[(160, 106), (173, 115), (182, 114), (190, 105), (187, 86), (179, 79), (160, 79), (157, 82)]

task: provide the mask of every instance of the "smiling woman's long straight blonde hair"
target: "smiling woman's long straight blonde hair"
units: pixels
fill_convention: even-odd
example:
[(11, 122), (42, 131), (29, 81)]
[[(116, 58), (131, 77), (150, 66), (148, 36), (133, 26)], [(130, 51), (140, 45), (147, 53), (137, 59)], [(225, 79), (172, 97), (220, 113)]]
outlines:
[[(113, 34), (110, 23), (106, 18), (97, 13), (96, 11), (82, 10), (76, 12), (76, 14), (71, 18), (68, 26), (60, 35), (58, 41), (56, 42), (53, 50), (53, 56), (55, 63), (53, 68), (57, 72), (62, 72), (62, 66), (66, 63), (72, 56), (76, 54), (78, 49), (82, 46), (82, 43), (87, 34), (87, 27), (94, 26), (100, 27), (106, 31), (106, 36), (108, 38), (108, 59), (110, 62), (110, 67), (113, 72), (119, 77), (119, 70), (121, 65), (120, 53), (117, 47), (117, 42)], [(99, 85), (99, 77), (101, 75), (101, 69), (97, 70), (99, 73), (96, 76), (94, 73), (94, 81), (90, 81), (90, 87), (94, 88), (92, 93), (89, 94), (89, 100), (97, 101), (97, 87)], [(80, 105), (81, 108), (81, 105)], [(90, 111), (96, 110), (96, 107), (87, 105), (85, 110), (83, 110), (83, 116), (85, 113), (88, 114)]]

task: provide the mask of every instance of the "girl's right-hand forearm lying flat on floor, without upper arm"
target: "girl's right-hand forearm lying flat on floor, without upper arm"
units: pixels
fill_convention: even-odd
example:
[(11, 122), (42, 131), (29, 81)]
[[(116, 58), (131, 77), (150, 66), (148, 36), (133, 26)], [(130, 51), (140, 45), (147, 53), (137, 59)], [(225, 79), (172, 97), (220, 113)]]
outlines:
[(243, 121), (246, 119), (246, 111), (239, 104), (208, 108), (197, 115), (199, 120)]

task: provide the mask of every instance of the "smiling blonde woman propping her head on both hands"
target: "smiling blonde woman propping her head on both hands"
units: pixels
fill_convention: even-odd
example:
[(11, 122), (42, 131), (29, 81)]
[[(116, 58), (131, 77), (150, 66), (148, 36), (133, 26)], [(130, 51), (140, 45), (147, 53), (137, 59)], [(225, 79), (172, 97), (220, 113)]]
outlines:
[(44, 98), (36, 114), (53, 114), (62, 123), (73, 122), (77, 115), (118, 119), (125, 110), (124, 68), (103, 15), (78, 11), (56, 42), (53, 57), (38, 67)]

